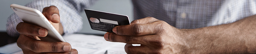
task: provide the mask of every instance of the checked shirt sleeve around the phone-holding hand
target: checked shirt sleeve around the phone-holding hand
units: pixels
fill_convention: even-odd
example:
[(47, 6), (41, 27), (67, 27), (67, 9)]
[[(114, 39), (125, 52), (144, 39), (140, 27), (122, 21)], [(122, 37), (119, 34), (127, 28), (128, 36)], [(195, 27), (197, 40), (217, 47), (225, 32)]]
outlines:
[[(92, 5), (95, 0), (35, 0), (25, 6), (35, 8), (42, 12), (44, 7), (54, 5), (58, 7), (60, 13), (60, 21), (63, 26), (65, 35), (79, 32), (82, 29), (82, 17), (80, 12)], [(19, 22), (23, 22), (15, 13), (7, 19), (6, 31), (12, 37), (18, 37), (19, 33), (16, 26)]]

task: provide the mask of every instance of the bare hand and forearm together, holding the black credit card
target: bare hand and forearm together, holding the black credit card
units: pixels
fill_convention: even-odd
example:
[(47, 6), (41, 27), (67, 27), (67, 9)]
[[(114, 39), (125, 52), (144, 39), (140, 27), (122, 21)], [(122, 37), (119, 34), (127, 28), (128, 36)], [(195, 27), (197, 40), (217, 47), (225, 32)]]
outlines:
[[(176, 29), (146, 17), (116, 26), (106, 41), (126, 43), (128, 54), (246, 54), (256, 53), (256, 15), (239, 21), (198, 29)], [(141, 44), (141, 46), (132, 46)]]

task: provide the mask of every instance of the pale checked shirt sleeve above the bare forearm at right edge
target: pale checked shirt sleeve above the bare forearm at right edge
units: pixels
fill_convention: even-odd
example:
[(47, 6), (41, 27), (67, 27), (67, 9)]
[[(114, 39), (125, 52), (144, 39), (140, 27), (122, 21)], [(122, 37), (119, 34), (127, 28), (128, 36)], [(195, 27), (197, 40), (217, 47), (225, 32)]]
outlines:
[(226, 0), (207, 26), (232, 23), (256, 14), (256, 0)]

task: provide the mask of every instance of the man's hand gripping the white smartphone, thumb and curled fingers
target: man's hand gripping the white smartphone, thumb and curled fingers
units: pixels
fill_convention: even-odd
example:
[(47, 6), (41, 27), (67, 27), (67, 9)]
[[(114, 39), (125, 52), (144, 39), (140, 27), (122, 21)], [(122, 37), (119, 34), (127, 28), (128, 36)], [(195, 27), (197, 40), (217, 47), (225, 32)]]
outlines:
[[(55, 29), (63, 34), (63, 27), (60, 23), (58, 8), (55, 6), (45, 7), (42, 11), (44, 16), (51, 22)], [(20, 22), (17, 27), (20, 36), (17, 45), (24, 54), (77, 54), (76, 49), (71, 49), (67, 42), (41, 41), (39, 37), (45, 37), (48, 32), (46, 29), (26, 22)]]

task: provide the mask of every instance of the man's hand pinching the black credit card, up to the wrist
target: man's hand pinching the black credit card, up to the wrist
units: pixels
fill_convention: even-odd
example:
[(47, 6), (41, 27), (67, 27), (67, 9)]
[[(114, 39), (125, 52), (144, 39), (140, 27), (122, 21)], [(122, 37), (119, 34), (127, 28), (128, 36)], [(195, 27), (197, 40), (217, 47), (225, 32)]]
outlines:
[(180, 53), (186, 47), (179, 37), (183, 36), (183, 31), (153, 17), (134, 20), (130, 25), (116, 26), (113, 32), (106, 33), (105, 40), (126, 43), (125, 51), (128, 54)]

